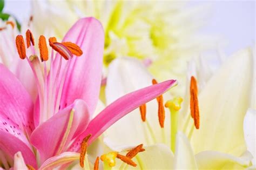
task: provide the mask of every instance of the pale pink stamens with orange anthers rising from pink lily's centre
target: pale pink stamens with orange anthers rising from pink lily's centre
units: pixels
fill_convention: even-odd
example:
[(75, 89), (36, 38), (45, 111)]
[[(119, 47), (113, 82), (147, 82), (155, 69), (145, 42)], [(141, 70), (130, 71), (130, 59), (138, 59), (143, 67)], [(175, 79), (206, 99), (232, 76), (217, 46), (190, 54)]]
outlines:
[[(39, 61), (35, 49), (35, 40), (30, 30), (26, 31), (26, 47), (24, 38), (22, 35), (16, 37), (16, 47), (18, 55), (21, 59), (26, 59), (33, 71), (35, 76), (38, 97), (39, 97), (39, 111), (36, 113), (39, 117), (40, 124), (49, 119), (53, 114), (58, 112), (60, 109), (60, 97), (62, 96), (64, 81), (68, 74), (68, 68), (70, 66), (70, 59), (75, 56), (81, 56), (83, 51), (76, 44), (71, 42), (58, 43), (55, 37), (49, 38), (49, 45), (52, 47), (50, 65), (46, 64), (49, 59), (48, 46), (46, 38), (41, 35), (38, 40), (38, 48), (40, 53)], [(56, 56), (57, 64), (53, 64), (54, 51), (58, 52), (60, 56), (68, 60), (65, 63), (64, 69), (62, 69), (62, 57)], [(28, 58), (26, 52), (30, 53)], [(62, 70), (63, 72), (60, 72)]]

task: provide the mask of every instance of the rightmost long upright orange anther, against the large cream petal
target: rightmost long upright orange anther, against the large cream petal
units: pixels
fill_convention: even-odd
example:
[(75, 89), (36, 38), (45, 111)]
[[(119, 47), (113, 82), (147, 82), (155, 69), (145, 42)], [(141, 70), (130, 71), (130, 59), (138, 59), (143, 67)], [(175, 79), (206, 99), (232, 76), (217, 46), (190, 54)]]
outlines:
[(191, 117), (194, 119), (194, 126), (199, 129), (200, 125), (200, 115), (199, 115), (199, 106), (198, 106), (198, 89), (197, 89), (197, 80), (193, 76), (191, 77), (190, 82), (190, 112)]

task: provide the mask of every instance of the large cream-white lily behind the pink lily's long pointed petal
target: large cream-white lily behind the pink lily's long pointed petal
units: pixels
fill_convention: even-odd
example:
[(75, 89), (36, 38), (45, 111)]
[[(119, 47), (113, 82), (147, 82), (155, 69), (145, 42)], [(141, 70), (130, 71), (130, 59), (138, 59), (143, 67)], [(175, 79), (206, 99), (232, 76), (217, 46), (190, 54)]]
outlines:
[[(201, 89), (199, 88), (199, 130), (195, 130), (194, 125), (192, 125), (188, 111), (189, 96), (186, 94), (184, 103), (181, 105), (183, 109), (178, 111), (180, 112), (178, 113), (179, 119), (176, 122), (172, 120), (172, 124), (170, 123), (170, 114), (167, 114), (166, 111), (165, 127), (160, 128), (157, 120), (157, 103), (151, 101), (146, 104), (145, 123), (140, 120), (139, 110), (133, 111), (106, 132), (105, 143), (114, 151), (122, 151), (131, 145), (143, 143), (146, 146), (151, 146), (161, 142), (170, 146), (172, 150), (176, 150), (177, 158), (174, 160), (188, 162), (187, 165), (194, 165), (194, 168), (199, 169), (245, 168), (250, 166), (252, 156), (247, 152), (242, 126), (246, 110), (250, 107), (253, 88), (253, 57), (250, 49), (239, 51), (226, 60), (226, 63), (208, 81), (204, 81), (204, 76), (198, 76), (197, 72), (193, 73), (193, 76), (200, 77), (199, 83), (203, 81), (205, 83)], [(200, 72), (204, 71), (200, 70)], [(114, 60), (110, 65), (107, 78), (106, 103), (111, 103), (119, 95), (151, 84), (151, 80), (152, 76), (136, 59), (118, 58)], [(129, 86), (126, 85), (128, 82)], [(131, 84), (133, 86), (130, 86)], [(174, 91), (175, 88), (172, 90)], [(165, 99), (166, 97), (167, 99), (171, 98), (164, 96)], [(176, 126), (175, 123), (178, 124), (177, 127), (174, 127)], [(181, 133), (178, 133), (177, 137), (171, 135), (169, 127), (177, 128), (185, 133), (191, 146)], [(174, 147), (171, 146), (175, 142), (173, 136), (177, 138)], [(178, 145), (182, 145), (178, 142), (181, 139), (184, 141), (183, 144), (186, 144), (187, 148), (191, 147), (191, 149), (184, 150), (186, 148), (184, 146), (178, 151)], [(140, 153), (140, 155), (142, 154), (146, 154), (146, 152)], [(182, 154), (186, 154), (186, 156), (178, 159), (179, 155)], [(193, 156), (194, 154), (196, 155)], [(186, 159), (184, 160), (184, 158)], [(195, 160), (194, 163), (193, 160)], [(149, 161), (144, 161), (149, 164)], [(178, 166), (178, 163), (174, 163), (174, 165), (174, 167), (179, 168), (183, 164)]]

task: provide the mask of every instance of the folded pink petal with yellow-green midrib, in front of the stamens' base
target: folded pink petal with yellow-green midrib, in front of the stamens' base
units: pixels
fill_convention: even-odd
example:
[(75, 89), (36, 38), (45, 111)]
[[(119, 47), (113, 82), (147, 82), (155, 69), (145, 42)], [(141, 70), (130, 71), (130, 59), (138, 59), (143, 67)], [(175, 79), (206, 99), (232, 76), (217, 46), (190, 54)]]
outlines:
[(31, 134), (31, 144), (38, 149), (44, 161), (65, 151), (70, 140), (85, 131), (89, 121), (87, 105), (83, 100), (76, 100), (39, 125)]

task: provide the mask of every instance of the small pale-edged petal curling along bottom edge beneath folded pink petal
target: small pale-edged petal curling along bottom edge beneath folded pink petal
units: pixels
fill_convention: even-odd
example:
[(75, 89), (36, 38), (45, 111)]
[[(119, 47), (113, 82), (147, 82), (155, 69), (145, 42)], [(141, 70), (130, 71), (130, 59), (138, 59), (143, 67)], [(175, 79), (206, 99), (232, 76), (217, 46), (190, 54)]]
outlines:
[(39, 169), (52, 169), (59, 165), (66, 164), (74, 160), (79, 160), (79, 155), (80, 154), (76, 152), (63, 152), (44, 161)]

